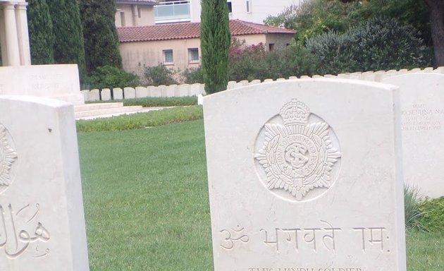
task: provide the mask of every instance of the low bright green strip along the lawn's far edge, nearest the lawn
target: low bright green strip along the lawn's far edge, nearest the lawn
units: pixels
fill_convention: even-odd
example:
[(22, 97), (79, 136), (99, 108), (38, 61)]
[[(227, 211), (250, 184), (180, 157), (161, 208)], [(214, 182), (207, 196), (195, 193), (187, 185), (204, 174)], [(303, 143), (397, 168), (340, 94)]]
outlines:
[(114, 116), (106, 119), (80, 120), (76, 124), (78, 132), (123, 131), (175, 124), (183, 121), (195, 121), (203, 117), (202, 106), (193, 105)]

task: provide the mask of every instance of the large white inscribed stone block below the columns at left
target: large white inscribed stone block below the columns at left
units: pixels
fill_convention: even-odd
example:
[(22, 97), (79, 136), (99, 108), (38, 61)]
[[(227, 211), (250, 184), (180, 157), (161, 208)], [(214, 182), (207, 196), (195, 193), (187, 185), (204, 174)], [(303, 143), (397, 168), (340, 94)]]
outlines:
[(30, 95), (85, 104), (75, 64), (0, 67), (0, 95)]

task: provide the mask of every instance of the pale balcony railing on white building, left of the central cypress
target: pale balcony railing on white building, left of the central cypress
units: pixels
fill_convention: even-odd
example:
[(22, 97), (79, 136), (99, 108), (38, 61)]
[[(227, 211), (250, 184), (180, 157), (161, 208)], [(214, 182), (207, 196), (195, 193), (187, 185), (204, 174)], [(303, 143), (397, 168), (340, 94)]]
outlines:
[(154, 6), (156, 23), (189, 22), (190, 18), (190, 1), (160, 2)]

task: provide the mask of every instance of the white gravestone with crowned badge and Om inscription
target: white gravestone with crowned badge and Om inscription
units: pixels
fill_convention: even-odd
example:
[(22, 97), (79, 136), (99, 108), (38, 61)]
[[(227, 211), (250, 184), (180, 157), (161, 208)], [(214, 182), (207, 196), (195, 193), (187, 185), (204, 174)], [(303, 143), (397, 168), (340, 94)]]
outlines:
[(405, 271), (399, 91), (342, 79), (204, 97), (216, 271)]

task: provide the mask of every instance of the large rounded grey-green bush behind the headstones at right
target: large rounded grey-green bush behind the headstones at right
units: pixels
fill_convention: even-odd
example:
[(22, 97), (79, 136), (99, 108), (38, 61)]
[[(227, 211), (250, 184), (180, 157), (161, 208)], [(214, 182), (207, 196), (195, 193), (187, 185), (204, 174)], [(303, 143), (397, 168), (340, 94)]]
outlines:
[(343, 35), (328, 32), (307, 40), (319, 74), (378, 71), (428, 65), (424, 42), (410, 25), (372, 18)]

